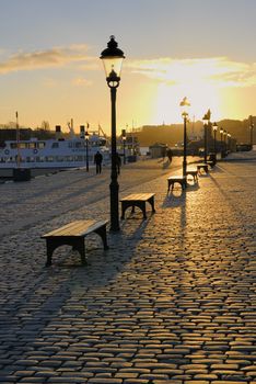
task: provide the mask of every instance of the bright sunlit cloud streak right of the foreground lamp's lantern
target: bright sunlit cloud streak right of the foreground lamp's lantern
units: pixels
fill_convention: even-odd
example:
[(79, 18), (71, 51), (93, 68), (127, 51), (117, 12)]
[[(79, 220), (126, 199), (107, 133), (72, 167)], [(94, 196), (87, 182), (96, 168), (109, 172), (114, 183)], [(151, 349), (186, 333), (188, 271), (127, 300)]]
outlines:
[(127, 68), (166, 84), (208, 82), (217, 87), (256, 86), (256, 63), (232, 61), (225, 57), (133, 60)]

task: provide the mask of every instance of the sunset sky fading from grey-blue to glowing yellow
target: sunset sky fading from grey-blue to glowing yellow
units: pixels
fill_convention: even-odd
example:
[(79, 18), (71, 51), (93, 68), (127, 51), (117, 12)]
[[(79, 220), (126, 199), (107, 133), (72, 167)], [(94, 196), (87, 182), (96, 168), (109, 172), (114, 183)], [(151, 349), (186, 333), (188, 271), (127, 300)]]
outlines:
[(256, 114), (256, 0), (0, 0), (0, 123), (110, 133), (101, 53), (126, 58), (117, 132)]

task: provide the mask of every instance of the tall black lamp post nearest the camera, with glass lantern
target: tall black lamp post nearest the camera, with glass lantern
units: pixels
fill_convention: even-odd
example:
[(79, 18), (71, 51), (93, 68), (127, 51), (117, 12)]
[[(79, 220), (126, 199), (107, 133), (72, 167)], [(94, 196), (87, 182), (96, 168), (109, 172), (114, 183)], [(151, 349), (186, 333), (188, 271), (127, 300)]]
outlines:
[(124, 52), (117, 47), (115, 36), (110, 36), (107, 43), (107, 48), (101, 54), (103, 60), (107, 86), (110, 88), (110, 101), (112, 101), (112, 174), (110, 174), (110, 230), (119, 230), (119, 213), (118, 213), (118, 191), (119, 184), (117, 181), (117, 167), (116, 167), (116, 89), (120, 81), (120, 71), (123, 59), (125, 58)]

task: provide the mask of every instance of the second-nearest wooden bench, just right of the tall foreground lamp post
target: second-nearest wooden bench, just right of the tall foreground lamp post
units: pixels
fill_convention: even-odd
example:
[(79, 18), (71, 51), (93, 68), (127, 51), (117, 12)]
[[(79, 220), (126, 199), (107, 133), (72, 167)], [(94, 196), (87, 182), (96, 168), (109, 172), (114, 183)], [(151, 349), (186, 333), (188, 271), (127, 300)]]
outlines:
[(121, 202), (121, 218), (125, 218), (125, 212), (128, 207), (132, 207), (131, 213), (135, 212), (135, 207), (138, 206), (142, 213), (143, 218), (147, 218), (146, 214), (146, 203), (149, 202), (152, 212), (154, 213), (154, 193), (132, 193), (120, 200)]

